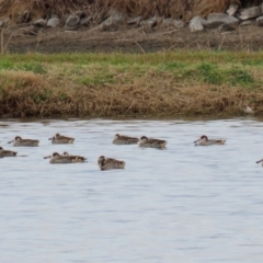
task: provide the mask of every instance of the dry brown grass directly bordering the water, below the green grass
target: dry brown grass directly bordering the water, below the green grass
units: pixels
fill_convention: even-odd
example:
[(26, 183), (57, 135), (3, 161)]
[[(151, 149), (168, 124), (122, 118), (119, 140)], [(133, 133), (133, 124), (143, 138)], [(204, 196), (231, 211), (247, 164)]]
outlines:
[(83, 85), (24, 71), (1, 75), (0, 115), (13, 117), (119, 117), (240, 115), (243, 105), (263, 111), (263, 93), (229, 85), (180, 83), (147, 73), (129, 83)]

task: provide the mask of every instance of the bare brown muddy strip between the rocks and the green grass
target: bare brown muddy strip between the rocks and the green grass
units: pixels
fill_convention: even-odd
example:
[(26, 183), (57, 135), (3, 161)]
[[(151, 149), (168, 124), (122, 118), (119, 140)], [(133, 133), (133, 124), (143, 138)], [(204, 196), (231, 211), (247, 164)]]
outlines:
[(163, 50), (261, 50), (263, 30), (255, 25), (220, 34), (217, 31), (190, 33), (188, 28), (151, 30), (125, 28), (117, 32), (65, 32), (56, 28), (37, 37), (7, 32), (7, 50), (10, 53), (151, 53)]

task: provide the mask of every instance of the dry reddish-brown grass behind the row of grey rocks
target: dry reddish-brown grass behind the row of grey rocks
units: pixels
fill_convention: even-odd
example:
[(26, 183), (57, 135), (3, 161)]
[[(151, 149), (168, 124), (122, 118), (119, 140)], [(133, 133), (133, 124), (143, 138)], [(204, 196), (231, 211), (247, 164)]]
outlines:
[(124, 11), (127, 16), (151, 15), (172, 16), (188, 21), (193, 15), (206, 16), (210, 12), (224, 12), (230, 3), (260, 4), (260, 0), (0, 0), (0, 18), (11, 16), (14, 21), (28, 20), (23, 14), (31, 12), (31, 18), (48, 16), (53, 13), (65, 19), (68, 13), (83, 11), (87, 15), (107, 13), (112, 8)]

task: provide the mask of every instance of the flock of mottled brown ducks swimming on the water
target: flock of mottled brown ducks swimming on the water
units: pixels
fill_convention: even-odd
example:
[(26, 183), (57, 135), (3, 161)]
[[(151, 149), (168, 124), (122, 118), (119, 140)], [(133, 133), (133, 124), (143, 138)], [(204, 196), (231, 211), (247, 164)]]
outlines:
[[(57, 145), (68, 145), (73, 144), (75, 138), (64, 136), (60, 134), (56, 134), (54, 137), (49, 138), (52, 144)], [(148, 138), (146, 136), (141, 136), (140, 139), (136, 137), (129, 137), (125, 135), (116, 134), (113, 141), (115, 145), (137, 145), (139, 147), (145, 148), (157, 148), (157, 149), (164, 149), (167, 147), (167, 140), (162, 139), (155, 139)], [(226, 140), (222, 139), (208, 139), (206, 135), (201, 136), (194, 144), (197, 146), (211, 146), (211, 145), (225, 145)], [(37, 147), (39, 145), (39, 140), (35, 139), (22, 139), (20, 136), (16, 136), (13, 140), (9, 141), (8, 144), (13, 144), (14, 147)], [(4, 150), (0, 147), (0, 158), (4, 157), (16, 157), (16, 151)], [(87, 162), (87, 158), (82, 156), (71, 156), (68, 152), (64, 152), (59, 155), (58, 152), (53, 152), (53, 155), (44, 157), (44, 159), (48, 159), (49, 163), (77, 163), (77, 162)], [(256, 163), (262, 162), (263, 167), (263, 159), (256, 161)], [(124, 169), (125, 161), (117, 160), (114, 158), (106, 158), (104, 156), (100, 156), (98, 159), (98, 165), (101, 170), (108, 170), (108, 169)]]

